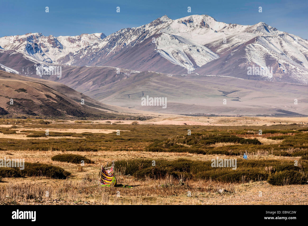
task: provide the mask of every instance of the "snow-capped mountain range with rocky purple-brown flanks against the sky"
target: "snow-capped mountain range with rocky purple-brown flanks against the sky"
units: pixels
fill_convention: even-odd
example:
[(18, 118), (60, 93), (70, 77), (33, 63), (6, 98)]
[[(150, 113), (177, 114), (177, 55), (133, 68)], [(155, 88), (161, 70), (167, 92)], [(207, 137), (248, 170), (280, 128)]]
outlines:
[[(227, 24), (208, 15), (176, 20), (165, 15), (107, 37), (103, 33), (73, 37), (40, 33), (6, 36), (0, 38), (0, 46), (52, 64), (174, 74), (191, 71), (308, 84), (308, 40), (263, 22), (252, 26)], [(251, 75), (248, 67), (263, 69), (265, 73), (255, 71)]]

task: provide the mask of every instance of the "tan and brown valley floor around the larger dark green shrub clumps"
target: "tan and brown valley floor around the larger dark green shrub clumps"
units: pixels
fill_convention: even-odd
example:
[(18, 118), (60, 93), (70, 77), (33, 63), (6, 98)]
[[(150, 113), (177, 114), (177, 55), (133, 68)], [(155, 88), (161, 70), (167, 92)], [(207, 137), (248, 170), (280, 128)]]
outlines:
[[(235, 183), (212, 179), (181, 180), (169, 175), (159, 179), (152, 179), (149, 176), (136, 178), (116, 169), (117, 183), (129, 185), (132, 188), (98, 186), (100, 166), (106, 165), (107, 162), (112, 160), (145, 159), (152, 161), (153, 159), (163, 159), (172, 161), (181, 158), (192, 161), (210, 161), (216, 157), (242, 159), (242, 155), (230, 157), (231, 155), (221, 153), (144, 151), (148, 145), (155, 141), (187, 134), (187, 129), (191, 129), (192, 133), (195, 131), (208, 133), (213, 129), (217, 131), (257, 131), (259, 127), (256, 122), (260, 122), (261, 125), (268, 125), (263, 126), (263, 130), (266, 127), (273, 130), (276, 128), (274, 122), (288, 122), (288, 124), (297, 123), (296, 128), (295, 125), (284, 124), (278, 125), (277, 129), (281, 131), (293, 129), (294, 134), (288, 133), (288, 136), (296, 136), (296, 134), (306, 136), (305, 132), (295, 133), (295, 129), (307, 128), (299, 124), (305, 120), (308, 122), (307, 118), (266, 118), (265, 120), (257, 117), (246, 117), (246, 119), (243, 117), (211, 117), (210, 119), (193, 117), (193, 119), (188, 120), (188, 117), (166, 117), (160, 120), (156, 118), (149, 121), (139, 121), (139, 125), (131, 125), (132, 121), (116, 122), (112, 120), (108, 122), (91, 121), (93, 123), (49, 120), (50, 123), (46, 125), (36, 124), (35, 121), (13, 124), (14, 120), (3, 120), (1, 122), (0, 119), (0, 136), (3, 136), (1, 137), (1, 158), (22, 158), (29, 163), (59, 166), (70, 172), (71, 176), (65, 180), (50, 179), (45, 176), (3, 177), (0, 183), (1, 204), (308, 204), (307, 184), (276, 186), (262, 179)], [(7, 124), (7, 120), (12, 124)], [(211, 121), (212, 124), (203, 125), (205, 120)], [(248, 121), (251, 123), (251, 127), (245, 124), (246, 120), (247, 123)], [(170, 121), (175, 125), (169, 125)], [(164, 122), (167, 125), (161, 125)], [(181, 124), (182, 122), (187, 125)], [(195, 122), (196, 124), (194, 124)], [(294, 128), (291, 128), (292, 126)], [(51, 137), (42, 140), (40, 136), (44, 138), (46, 129), (50, 131)], [(120, 130), (120, 136), (116, 135), (117, 129)], [(24, 132), (20, 132), (21, 130), (24, 130)], [(28, 135), (38, 135), (38, 137), (27, 137)], [(281, 135), (279, 131), (265, 133), (264, 137), (238, 134), (238, 137), (245, 137), (246, 139), (256, 137), (263, 145), (259, 147), (218, 142), (206, 146), (206, 149), (220, 150), (235, 147), (245, 151), (249, 148), (249, 159), (252, 161), (300, 161), (300, 156), (280, 156), (269, 148), (272, 145), (279, 149), (280, 145), (286, 142), (285, 140), (267, 138), (278, 135)], [(27, 140), (16, 138), (18, 136), (26, 137)], [(302, 145), (305, 146), (305, 144), (304, 141)], [(93, 150), (70, 151), (68, 149), (79, 145), (89, 146)], [(295, 149), (294, 146), (294, 151), (290, 151), (290, 153), (294, 153)], [(80, 166), (75, 163), (51, 160), (51, 157), (63, 153), (85, 156), (95, 163)], [(120, 194), (120, 196), (117, 196), (117, 194)]]

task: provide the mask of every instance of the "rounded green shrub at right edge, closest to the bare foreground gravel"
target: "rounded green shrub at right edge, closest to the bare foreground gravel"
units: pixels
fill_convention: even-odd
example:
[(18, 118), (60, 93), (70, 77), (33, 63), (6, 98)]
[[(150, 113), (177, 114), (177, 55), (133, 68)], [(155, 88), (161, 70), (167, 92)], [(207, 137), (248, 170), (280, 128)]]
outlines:
[(305, 184), (307, 176), (295, 170), (283, 170), (271, 174), (267, 181), (272, 185)]

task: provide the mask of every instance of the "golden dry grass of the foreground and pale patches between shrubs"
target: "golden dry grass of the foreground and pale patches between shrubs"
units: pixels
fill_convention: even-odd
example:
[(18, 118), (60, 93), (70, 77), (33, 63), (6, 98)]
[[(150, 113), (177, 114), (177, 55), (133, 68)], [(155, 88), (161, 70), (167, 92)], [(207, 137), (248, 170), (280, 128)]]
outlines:
[[(178, 117), (174, 117), (176, 121), (182, 121)], [(185, 117), (184, 117), (185, 119)], [(247, 118), (248, 119), (248, 118)], [(257, 118), (249, 118), (250, 120), (259, 120)], [(152, 124), (157, 119), (149, 121), (141, 121), (140, 125)], [(160, 119), (162, 120), (162, 119)], [(197, 120), (197, 119), (194, 119)], [(200, 118), (199, 118), (200, 120)], [(205, 120), (205, 119), (204, 119)], [(208, 120), (208, 119), (206, 119)], [(214, 120), (214, 119), (213, 119)], [(227, 125), (239, 122), (237, 117), (215, 118), (216, 123), (225, 123)], [(238, 120), (232, 122), (232, 120)], [(243, 119), (240, 119), (243, 121)], [(274, 119), (267, 118), (273, 121)], [(275, 120), (277, 120), (275, 118)], [(280, 119), (278, 119), (279, 121)], [(295, 119), (284, 119), (291, 121)], [(298, 120), (298, 119), (296, 119)], [(121, 120), (123, 121), (123, 120)], [(308, 121), (308, 120), (307, 120)], [(95, 124), (95, 121), (93, 121)], [(103, 121), (104, 122), (104, 121)], [(101, 123), (101, 122), (100, 122)], [(130, 124), (125, 122), (123, 124)], [(214, 123), (214, 122), (213, 122)], [(262, 121), (266, 124), (267, 121)], [(74, 122), (52, 123), (57, 125), (76, 125), (77, 129), (81, 125)], [(52, 125), (51, 124), (51, 125)], [(120, 124), (120, 123), (119, 123)], [(264, 125), (262, 124), (262, 125)], [(51, 125), (49, 128), (52, 128)], [(9, 126), (0, 125), (5, 128)], [(27, 130), (40, 129), (37, 128)], [(103, 125), (100, 130), (105, 130)], [(74, 128), (71, 128), (74, 129)], [(19, 130), (19, 129), (18, 129)], [(57, 127), (57, 131), (59, 127)], [(80, 129), (89, 132), (87, 129)], [(87, 131), (86, 131), (87, 130)], [(111, 130), (111, 129), (106, 129)], [(58, 131), (59, 132), (59, 131)], [(67, 131), (64, 131), (67, 132)], [(76, 132), (75, 132), (76, 133)], [(130, 132), (129, 132), (130, 133)], [(2, 134), (2, 133), (0, 133)], [(2, 134), (4, 135), (4, 134)], [(14, 140), (14, 136), (21, 134), (5, 134)], [(279, 134), (266, 134), (259, 137), (258, 135), (238, 135), (239, 137), (254, 138), (264, 144), (279, 144), (281, 140), (267, 139), (268, 136), (279, 136)], [(292, 134), (290, 134), (292, 136)], [(53, 137), (55, 138), (55, 137)], [(70, 137), (70, 139), (73, 137)], [(38, 138), (32, 138), (34, 141)], [(16, 140), (15, 140), (16, 141)], [(59, 141), (60, 142), (60, 141)], [(115, 143), (116, 145), (116, 143)], [(214, 147), (224, 147), (232, 145), (232, 143), (216, 143)], [(23, 158), (26, 162), (39, 162), (59, 166), (68, 172), (71, 177), (67, 180), (48, 179), (46, 177), (27, 177), (27, 178), (3, 178), (0, 183), (0, 203), (1, 204), (308, 204), (308, 185), (286, 185), (273, 186), (266, 181), (255, 181), (245, 184), (241, 183), (222, 183), (212, 180), (179, 180), (171, 176), (164, 179), (153, 180), (150, 178), (136, 179), (133, 176), (120, 175), (117, 172), (118, 184), (130, 185), (133, 188), (122, 187), (99, 187), (98, 176), (100, 166), (112, 160), (128, 160), (128, 159), (166, 159), (176, 160), (179, 158), (187, 158), (189, 160), (209, 161), (219, 158), (230, 158), (225, 155), (201, 155), (193, 153), (173, 153), (173, 152), (144, 152), (141, 151), (146, 145), (138, 145), (129, 147), (130, 150), (99, 150), (98, 152), (65, 152), (84, 155), (95, 161), (95, 164), (85, 164), (81, 167), (78, 164), (52, 161), (51, 157), (61, 154), (61, 151), (35, 151), (35, 150), (12, 150), (6, 147), (6, 150), (0, 149), (2, 158)], [(114, 148), (115, 149), (115, 148)], [(294, 148), (290, 147), (289, 153), (293, 153)], [(294, 161), (300, 157), (282, 157), (272, 155), (271, 150), (255, 149), (249, 153), (250, 159), (290, 159)], [(262, 196), (259, 196), (262, 192)], [(48, 192), (48, 196), (46, 196)], [(117, 197), (117, 192), (120, 196)], [(188, 196), (190, 192), (191, 196)]]

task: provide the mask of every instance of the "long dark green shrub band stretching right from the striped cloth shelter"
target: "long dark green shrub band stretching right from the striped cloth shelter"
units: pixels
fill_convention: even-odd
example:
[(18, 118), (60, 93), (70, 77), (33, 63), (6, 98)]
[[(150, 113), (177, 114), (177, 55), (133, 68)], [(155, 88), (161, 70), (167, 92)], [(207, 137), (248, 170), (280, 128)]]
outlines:
[[(216, 159), (215, 159), (216, 160)], [(247, 182), (250, 180), (267, 180), (270, 175), (275, 172), (296, 172), (295, 178), (303, 175), (295, 167), (293, 162), (278, 160), (244, 160), (237, 159), (237, 169), (231, 167), (212, 167), (212, 161), (191, 161), (188, 159), (178, 159), (174, 161), (155, 160), (155, 166), (152, 160), (134, 159), (122, 160), (115, 162), (115, 169), (121, 174), (132, 175), (138, 179), (164, 178), (166, 175), (172, 175), (176, 178), (192, 178), (192, 179), (212, 179), (224, 182)], [(302, 163), (302, 165), (304, 165)], [(304, 166), (306, 167), (307, 164)], [(271, 179), (273, 180), (273, 179)], [(303, 177), (302, 182), (305, 181)], [(294, 181), (288, 179), (288, 183)]]

